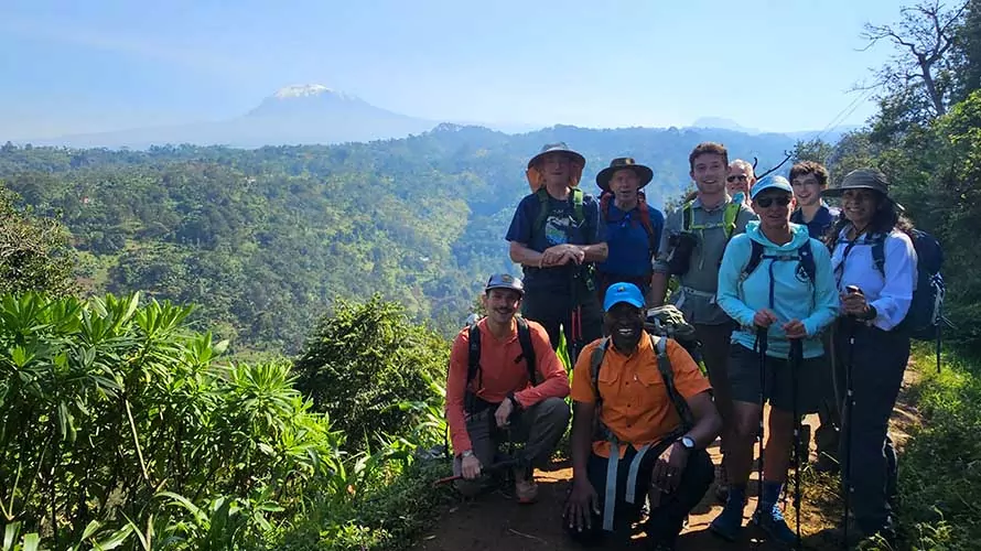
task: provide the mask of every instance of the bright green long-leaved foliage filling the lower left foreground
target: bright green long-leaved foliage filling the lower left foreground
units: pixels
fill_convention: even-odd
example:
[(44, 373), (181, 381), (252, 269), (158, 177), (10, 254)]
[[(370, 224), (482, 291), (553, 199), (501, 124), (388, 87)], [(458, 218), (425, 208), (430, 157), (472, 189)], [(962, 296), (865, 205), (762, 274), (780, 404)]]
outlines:
[(190, 312), (0, 295), (3, 549), (408, 544), (427, 516), (395, 511), (438, 498), (425, 477), (443, 465), (411, 452), (441, 436), (440, 393), (403, 406), (419, 430), (348, 454), (289, 363), (223, 361)]

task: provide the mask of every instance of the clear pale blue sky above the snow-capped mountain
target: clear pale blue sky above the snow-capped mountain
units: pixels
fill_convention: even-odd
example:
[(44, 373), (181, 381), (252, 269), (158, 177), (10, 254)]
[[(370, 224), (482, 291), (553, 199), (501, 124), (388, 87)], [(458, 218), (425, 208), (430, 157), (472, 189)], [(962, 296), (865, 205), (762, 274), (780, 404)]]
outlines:
[(3, 0), (0, 140), (240, 115), (316, 83), (436, 120), (862, 123), (896, 0)]

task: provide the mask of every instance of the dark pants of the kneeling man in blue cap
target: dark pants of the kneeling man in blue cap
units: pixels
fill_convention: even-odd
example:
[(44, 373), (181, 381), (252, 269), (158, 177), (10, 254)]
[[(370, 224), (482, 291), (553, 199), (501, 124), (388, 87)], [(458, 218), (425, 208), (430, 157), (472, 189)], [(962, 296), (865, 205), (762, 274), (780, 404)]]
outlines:
[[(624, 444), (626, 445), (626, 444)], [(626, 484), (629, 475), (630, 462), (637, 455), (633, 446), (626, 445), (627, 451), (624, 457), (619, 460), (616, 467), (616, 506), (614, 507), (614, 533), (618, 536), (628, 534), (630, 523), (636, 522), (640, 518), (640, 511), (647, 501), (647, 489), (650, 486), (650, 473), (654, 464), (657, 462), (656, 453), (647, 453), (640, 460), (640, 466), (637, 471), (637, 485), (635, 489), (635, 503), (626, 501)], [(590, 461), (586, 464), (586, 474), (590, 484), (600, 496), (600, 514), (593, 512), (591, 519), (591, 528), (583, 531), (576, 531), (569, 528), (568, 519), (562, 519), (562, 526), (567, 533), (573, 540), (580, 543), (595, 543), (603, 538), (603, 501), (606, 495), (606, 467), (610, 460), (601, 457), (596, 454), (590, 454)], [(684, 523), (684, 518), (689, 512), (702, 500), (712, 480), (715, 478), (715, 467), (709, 453), (704, 450), (691, 452), (688, 457), (688, 464), (681, 472), (681, 480), (678, 489), (669, 496), (661, 496), (660, 505), (653, 509), (645, 525), (648, 541), (664, 541), (673, 543)]]

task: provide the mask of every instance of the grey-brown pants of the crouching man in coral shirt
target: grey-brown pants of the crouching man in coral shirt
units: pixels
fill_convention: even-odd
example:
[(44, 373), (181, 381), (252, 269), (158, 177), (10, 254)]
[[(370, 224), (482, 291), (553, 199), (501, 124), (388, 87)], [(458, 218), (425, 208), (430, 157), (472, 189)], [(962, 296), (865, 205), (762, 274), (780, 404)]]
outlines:
[[(502, 444), (507, 442), (524, 443), (522, 458), (527, 458), (530, 467), (546, 467), (552, 452), (559, 444), (571, 415), (569, 404), (561, 398), (546, 398), (527, 410), (511, 414), (510, 426), (498, 429), (494, 420), (497, 408), (487, 408), (466, 421), (466, 433), (473, 445), (474, 455), (486, 468), (498, 461), (506, 460), (500, 453)], [(453, 474), (459, 475), (462, 460), (453, 461)], [(484, 474), (482, 474), (482, 478)], [(461, 480), (470, 483), (471, 480)], [(486, 482), (486, 480), (484, 480)]]

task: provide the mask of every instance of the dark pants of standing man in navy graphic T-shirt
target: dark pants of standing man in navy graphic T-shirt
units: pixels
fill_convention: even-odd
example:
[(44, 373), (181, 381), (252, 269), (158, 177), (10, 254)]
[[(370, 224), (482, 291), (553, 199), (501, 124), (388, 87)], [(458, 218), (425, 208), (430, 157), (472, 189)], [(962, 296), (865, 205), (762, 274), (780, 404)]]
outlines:
[[(589, 291), (585, 284), (580, 283), (580, 291), (576, 294), (582, 306), (580, 314), (582, 335), (578, 343), (582, 349), (585, 345), (603, 336), (603, 307), (596, 292)], [(567, 348), (572, 349), (574, 344), (572, 312), (572, 296), (549, 289), (528, 291), (525, 293), (525, 299), (521, 300), (521, 315), (545, 327), (553, 350), (559, 348), (560, 326), (565, 334)]]

